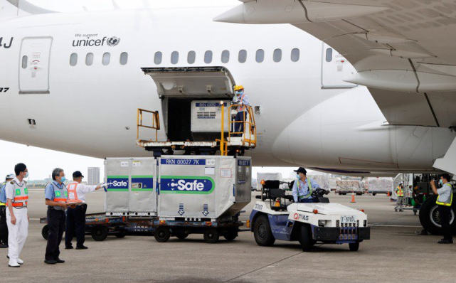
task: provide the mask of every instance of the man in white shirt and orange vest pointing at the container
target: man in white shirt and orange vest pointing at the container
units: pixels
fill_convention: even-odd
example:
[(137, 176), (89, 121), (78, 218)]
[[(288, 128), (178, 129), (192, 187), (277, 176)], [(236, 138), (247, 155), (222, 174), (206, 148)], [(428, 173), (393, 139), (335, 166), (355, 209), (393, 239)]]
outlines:
[(73, 183), (67, 186), (68, 203), (82, 203), (78, 205), (70, 205), (66, 213), (66, 229), (65, 229), (65, 249), (73, 249), (71, 241), (76, 235), (76, 250), (87, 250), (85, 247), (85, 213), (87, 212), (87, 203), (85, 203), (85, 194), (96, 191), (107, 185), (89, 186), (84, 185), (83, 173), (75, 171), (73, 173)]

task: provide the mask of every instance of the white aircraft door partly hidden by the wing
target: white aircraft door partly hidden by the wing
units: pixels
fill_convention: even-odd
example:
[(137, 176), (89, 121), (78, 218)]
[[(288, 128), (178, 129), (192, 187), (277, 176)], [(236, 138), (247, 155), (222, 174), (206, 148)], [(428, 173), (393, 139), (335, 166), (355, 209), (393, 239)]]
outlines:
[(343, 55), (323, 43), (322, 48), (322, 88), (346, 88), (356, 85), (344, 82), (344, 78), (356, 73), (355, 68)]

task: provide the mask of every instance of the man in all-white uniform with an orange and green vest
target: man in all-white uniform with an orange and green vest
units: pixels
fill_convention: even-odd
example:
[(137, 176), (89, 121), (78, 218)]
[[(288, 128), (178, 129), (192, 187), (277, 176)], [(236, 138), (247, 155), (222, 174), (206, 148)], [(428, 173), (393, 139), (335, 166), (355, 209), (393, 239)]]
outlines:
[(8, 258), (9, 267), (21, 267), (19, 258), (28, 235), (28, 188), (24, 178), (28, 177), (27, 166), (23, 163), (14, 166), (13, 181), (6, 183), (6, 223), (8, 224)]

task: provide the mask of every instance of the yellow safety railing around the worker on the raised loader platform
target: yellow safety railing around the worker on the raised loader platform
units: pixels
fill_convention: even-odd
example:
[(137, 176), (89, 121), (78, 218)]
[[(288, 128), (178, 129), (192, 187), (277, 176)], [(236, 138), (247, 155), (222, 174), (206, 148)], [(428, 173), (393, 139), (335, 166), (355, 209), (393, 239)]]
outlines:
[[(243, 143), (244, 146), (256, 146), (257, 145), (257, 127), (255, 125), (255, 115), (253, 114), (252, 107), (248, 105), (243, 105), (245, 107), (245, 110), (243, 111), (243, 120), (242, 121), (235, 121), (231, 118), (231, 110), (233, 110), (233, 107), (238, 107), (239, 105), (230, 105), (228, 107), (228, 120), (230, 121), (229, 123), (229, 131), (228, 131), (228, 140), (230, 140), (231, 137), (242, 137), (241, 142)], [(225, 113), (225, 105), (224, 103), (221, 103), (222, 107), (222, 113)], [(221, 139), (217, 141), (220, 141), (220, 151), (221, 155), (227, 155), (228, 154), (228, 144), (225, 140), (224, 134), (225, 134), (225, 123), (224, 123), (224, 118), (222, 114), (222, 127), (221, 127)], [(235, 132), (237, 129), (240, 130), (240, 124), (243, 126), (243, 131), (242, 132)]]

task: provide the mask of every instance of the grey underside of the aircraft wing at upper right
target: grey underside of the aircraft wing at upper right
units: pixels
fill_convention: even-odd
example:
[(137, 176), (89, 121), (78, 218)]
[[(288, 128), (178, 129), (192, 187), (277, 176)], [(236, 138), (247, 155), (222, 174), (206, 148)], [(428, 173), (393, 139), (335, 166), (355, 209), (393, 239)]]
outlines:
[(455, 0), (241, 0), (214, 21), (290, 23), (354, 65), (389, 124), (456, 126)]

